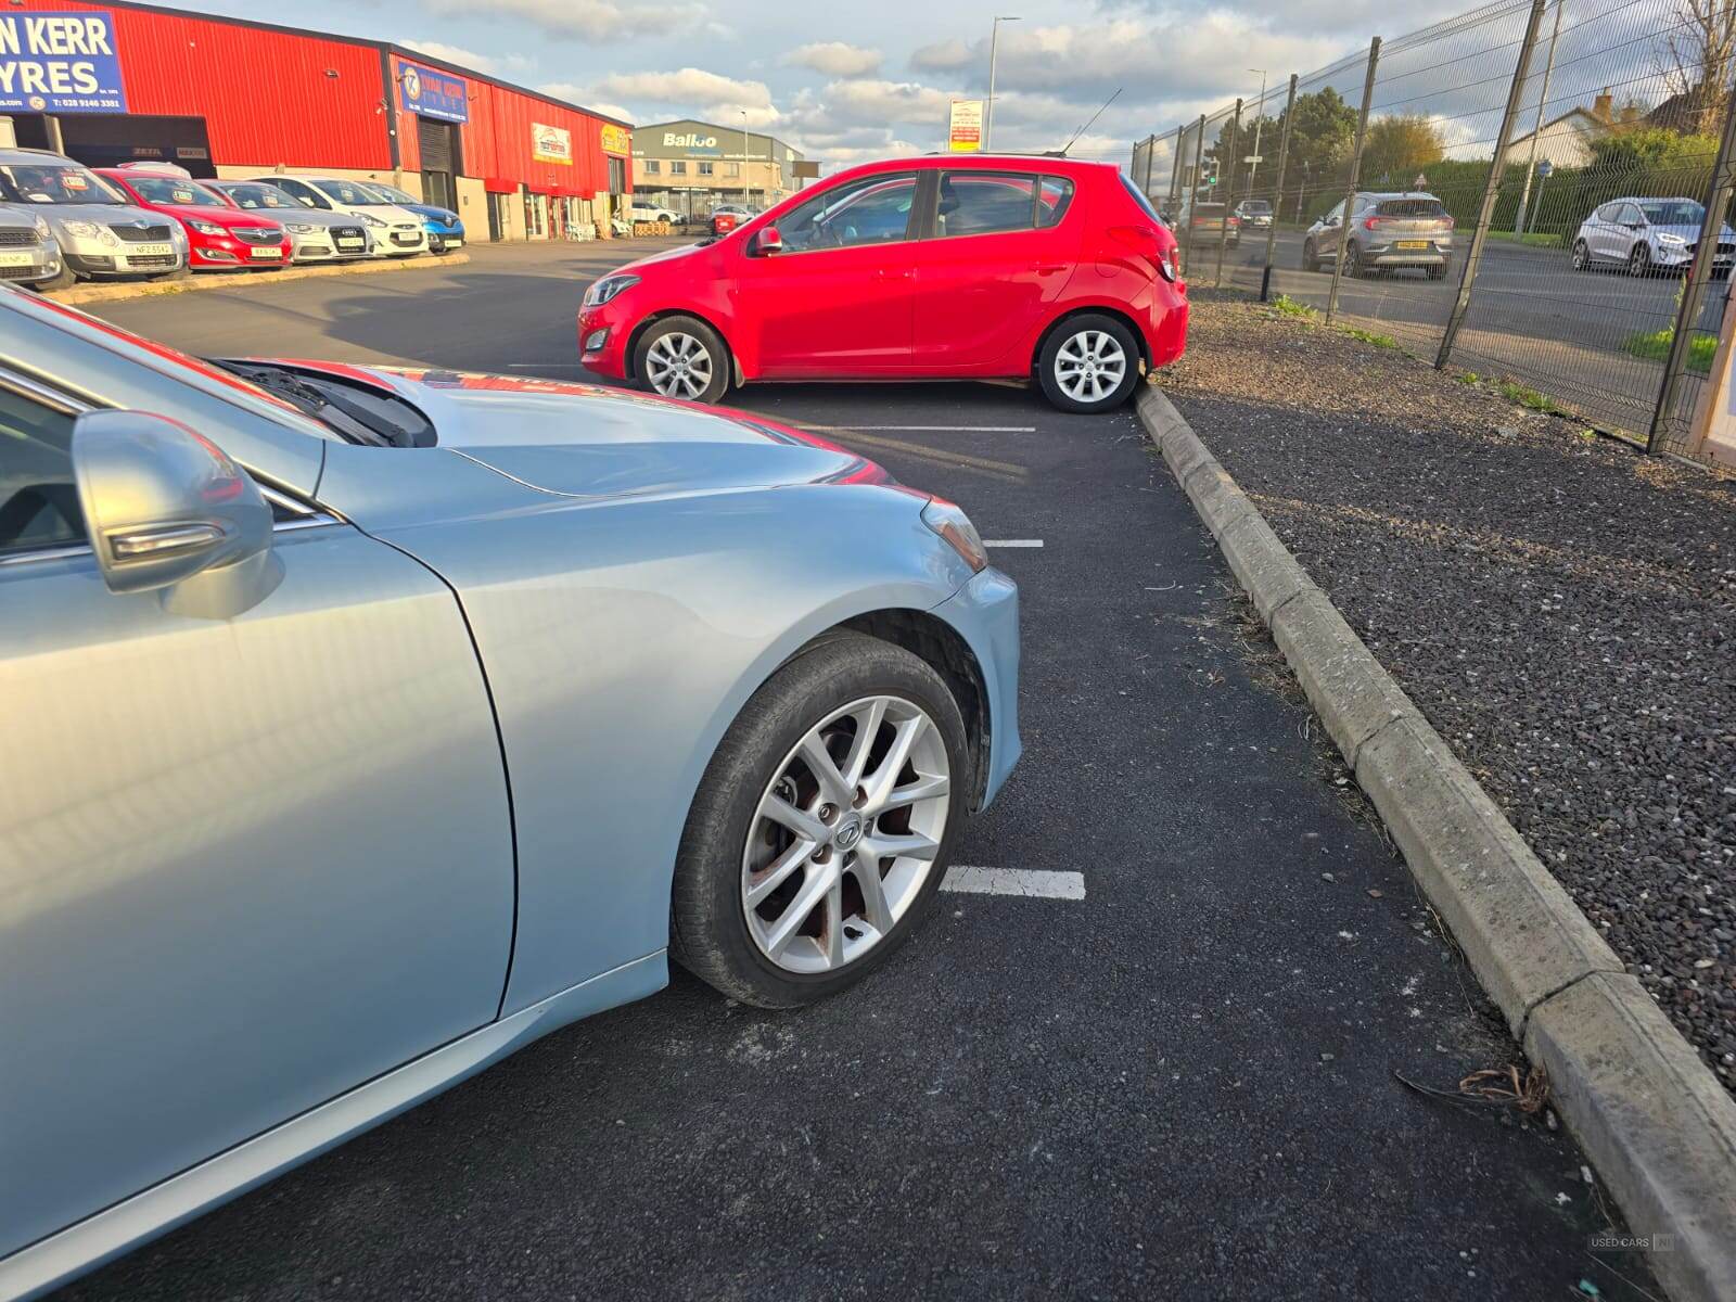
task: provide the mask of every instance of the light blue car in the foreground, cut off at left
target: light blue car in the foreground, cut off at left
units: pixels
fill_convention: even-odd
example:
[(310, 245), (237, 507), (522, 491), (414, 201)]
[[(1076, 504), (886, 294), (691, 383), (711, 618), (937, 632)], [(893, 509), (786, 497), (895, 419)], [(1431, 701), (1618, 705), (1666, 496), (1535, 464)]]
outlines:
[(9, 288), (0, 339), (0, 1297), (670, 955), (849, 986), (1019, 757), (1012, 582), (821, 439)]

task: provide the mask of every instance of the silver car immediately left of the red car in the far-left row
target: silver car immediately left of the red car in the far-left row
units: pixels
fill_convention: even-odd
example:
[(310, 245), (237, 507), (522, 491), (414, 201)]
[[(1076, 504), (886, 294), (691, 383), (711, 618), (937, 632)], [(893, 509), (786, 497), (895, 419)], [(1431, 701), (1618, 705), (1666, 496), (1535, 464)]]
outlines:
[(0, 149), (0, 198), (42, 217), (75, 278), (174, 276), (187, 266), (187, 236), (160, 212), (128, 203), (82, 163), (43, 149)]

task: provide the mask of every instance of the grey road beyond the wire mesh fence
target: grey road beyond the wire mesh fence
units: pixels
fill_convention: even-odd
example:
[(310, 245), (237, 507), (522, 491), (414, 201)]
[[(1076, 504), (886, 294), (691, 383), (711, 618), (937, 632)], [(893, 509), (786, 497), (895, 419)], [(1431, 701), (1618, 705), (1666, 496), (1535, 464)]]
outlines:
[[(1325, 271), (1304, 271), (1302, 240), (1297, 231), (1278, 233), (1272, 293), (1325, 307), (1332, 264)], [(1460, 245), (1469, 245), (1469, 238), (1462, 236)], [(1213, 285), (1217, 245), (1203, 241), (1193, 259), (1189, 279)], [(1264, 264), (1266, 236), (1250, 234), (1226, 255), (1224, 283), (1259, 290)], [(1663, 366), (1632, 356), (1621, 344), (1634, 333), (1670, 328), (1679, 288), (1675, 276), (1573, 271), (1564, 250), (1491, 240), (1455, 361), (1467, 370), (1522, 380), (1590, 420), (1644, 432)], [(1417, 271), (1338, 281), (1347, 321), (1391, 333), (1430, 359), (1457, 293), (1458, 264), (1443, 281), (1425, 279)], [(1717, 332), (1722, 309), (1720, 283), (1706, 299), (1701, 326)]]

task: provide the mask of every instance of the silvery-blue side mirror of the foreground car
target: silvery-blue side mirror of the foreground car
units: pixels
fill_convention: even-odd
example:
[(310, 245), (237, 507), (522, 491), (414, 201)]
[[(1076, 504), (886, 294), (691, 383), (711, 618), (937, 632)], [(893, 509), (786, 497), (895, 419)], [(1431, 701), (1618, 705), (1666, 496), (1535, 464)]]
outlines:
[(87, 411), (73, 425), (73, 479), (109, 592), (224, 575), (217, 604), (233, 609), (220, 613), (240, 613), (276, 587), (267, 582), (271, 507), (222, 448), (186, 425)]

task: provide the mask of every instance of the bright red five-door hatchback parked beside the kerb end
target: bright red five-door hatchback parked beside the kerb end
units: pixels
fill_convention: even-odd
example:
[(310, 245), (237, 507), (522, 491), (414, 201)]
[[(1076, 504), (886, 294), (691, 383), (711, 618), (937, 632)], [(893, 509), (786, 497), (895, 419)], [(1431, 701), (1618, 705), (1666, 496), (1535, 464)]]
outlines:
[(1106, 411), (1182, 354), (1175, 238), (1109, 163), (901, 158), (595, 281), (599, 375), (712, 403), (746, 380), (1031, 378)]

